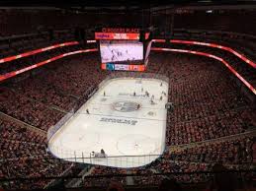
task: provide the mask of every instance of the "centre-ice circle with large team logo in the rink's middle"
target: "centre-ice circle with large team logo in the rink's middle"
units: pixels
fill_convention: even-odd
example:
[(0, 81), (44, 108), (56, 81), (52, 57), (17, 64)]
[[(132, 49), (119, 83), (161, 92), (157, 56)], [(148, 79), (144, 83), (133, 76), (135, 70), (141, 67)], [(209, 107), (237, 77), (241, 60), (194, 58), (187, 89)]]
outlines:
[(129, 100), (114, 102), (112, 106), (115, 110), (120, 112), (131, 112), (131, 111), (138, 110), (141, 107), (139, 103), (129, 101)]

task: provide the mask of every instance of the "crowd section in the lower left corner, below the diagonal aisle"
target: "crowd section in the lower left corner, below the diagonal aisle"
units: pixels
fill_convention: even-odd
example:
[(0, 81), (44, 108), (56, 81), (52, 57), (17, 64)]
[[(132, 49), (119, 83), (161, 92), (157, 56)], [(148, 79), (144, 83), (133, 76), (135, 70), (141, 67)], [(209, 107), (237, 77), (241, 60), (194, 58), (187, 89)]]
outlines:
[[(59, 162), (45, 152), (45, 135), (5, 120), (1, 120), (0, 127), (1, 178), (37, 177), (45, 174), (57, 176), (71, 166), (71, 163)], [(2, 182), (2, 186), (31, 189), (43, 187), (48, 181), (30, 181), (30, 184), (26, 184), (26, 181)]]

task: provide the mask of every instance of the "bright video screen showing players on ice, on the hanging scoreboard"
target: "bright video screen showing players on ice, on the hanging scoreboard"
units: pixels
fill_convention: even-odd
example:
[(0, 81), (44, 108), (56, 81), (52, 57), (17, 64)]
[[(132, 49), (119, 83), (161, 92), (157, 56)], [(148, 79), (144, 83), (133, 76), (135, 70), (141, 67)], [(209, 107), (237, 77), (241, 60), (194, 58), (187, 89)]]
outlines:
[(137, 40), (101, 40), (102, 63), (143, 60), (143, 43)]

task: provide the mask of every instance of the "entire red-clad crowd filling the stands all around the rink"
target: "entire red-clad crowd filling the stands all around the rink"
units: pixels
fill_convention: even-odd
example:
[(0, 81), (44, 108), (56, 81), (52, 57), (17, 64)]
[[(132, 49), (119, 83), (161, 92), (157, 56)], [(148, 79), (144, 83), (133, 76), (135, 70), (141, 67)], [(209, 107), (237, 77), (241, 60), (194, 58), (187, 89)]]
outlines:
[[(221, 68), (221, 63), (188, 54), (151, 52), (146, 72), (169, 77), (168, 98), (174, 103), (174, 109), (168, 112), (167, 151), (161, 158), (141, 168), (125, 170), (94, 166), (92, 174), (197, 172), (211, 170), (214, 162), (228, 165), (252, 162), (251, 137), (242, 139), (238, 136), (232, 141), (216, 140), (174, 153), (168, 151), (169, 147), (226, 138), (255, 128), (253, 108), (230, 82), (230, 74)], [(63, 117), (63, 110), (72, 109), (90, 87), (97, 86), (108, 74), (100, 69), (98, 54), (89, 53), (46, 65), (42, 72), (21, 82), (3, 84), (0, 111), (43, 130), (45, 134), (21, 127), (21, 122), (1, 120), (0, 177), (60, 175), (74, 165), (59, 162), (46, 153), (46, 131)], [(209, 174), (175, 175), (180, 182), (202, 182), (210, 177)], [(126, 181), (124, 177), (113, 179), (124, 184)], [(155, 176), (133, 177), (135, 184), (158, 184), (161, 179)], [(42, 188), (48, 181), (15, 182), (15, 185)], [(107, 185), (110, 179), (95, 181), (85, 181), (84, 186)]]

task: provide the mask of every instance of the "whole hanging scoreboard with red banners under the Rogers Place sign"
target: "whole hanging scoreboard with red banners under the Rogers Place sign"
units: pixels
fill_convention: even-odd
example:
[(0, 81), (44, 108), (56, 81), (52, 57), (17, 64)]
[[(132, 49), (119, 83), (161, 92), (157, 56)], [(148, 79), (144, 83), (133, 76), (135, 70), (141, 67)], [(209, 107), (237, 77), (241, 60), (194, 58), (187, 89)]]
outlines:
[[(143, 35), (143, 36), (141, 36)], [(103, 28), (95, 32), (103, 70), (144, 71), (149, 32), (139, 29)], [(145, 39), (145, 40), (141, 40)], [(145, 48), (146, 47), (146, 48)], [(150, 51), (150, 48), (149, 48)]]

